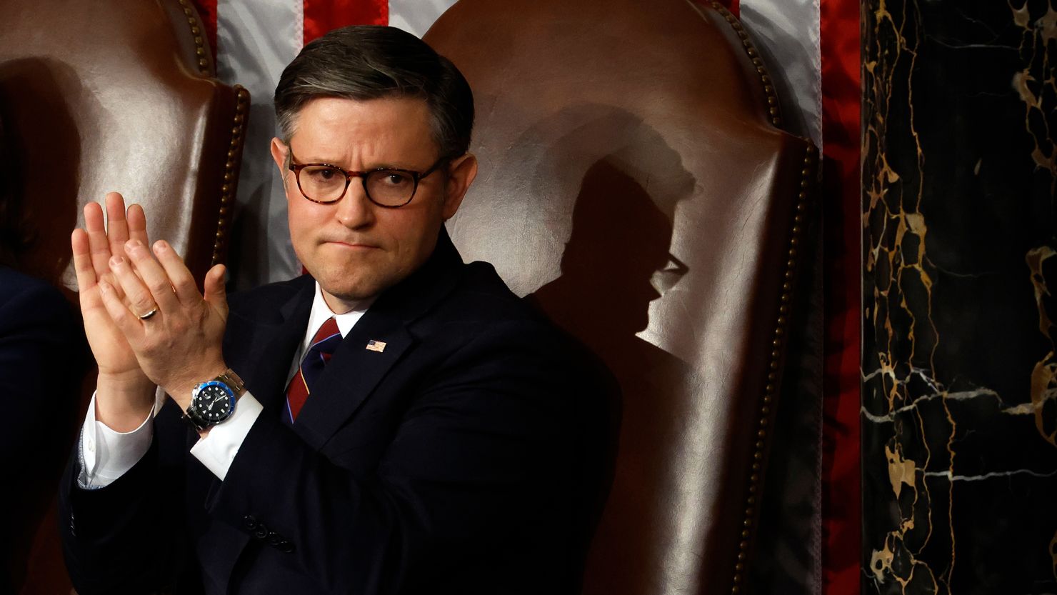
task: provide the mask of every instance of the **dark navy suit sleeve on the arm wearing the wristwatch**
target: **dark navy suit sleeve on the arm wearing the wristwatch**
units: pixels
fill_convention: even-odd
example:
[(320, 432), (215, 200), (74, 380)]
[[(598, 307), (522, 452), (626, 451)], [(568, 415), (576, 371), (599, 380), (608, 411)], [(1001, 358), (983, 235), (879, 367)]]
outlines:
[(450, 355), (410, 395), (370, 473), (339, 468), (261, 415), (212, 515), (267, 534), (323, 592), (440, 593), (509, 576), (506, 544), (530, 556), (560, 548), (541, 534), (575, 514), (579, 395), (549, 334), (502, 323)]

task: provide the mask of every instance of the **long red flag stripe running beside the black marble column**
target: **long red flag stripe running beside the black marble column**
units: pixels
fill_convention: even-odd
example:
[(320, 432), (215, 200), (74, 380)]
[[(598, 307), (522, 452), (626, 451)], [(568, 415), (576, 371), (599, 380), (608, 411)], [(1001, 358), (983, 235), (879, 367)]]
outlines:
[(859, 3), (821, 0), (822, 594), (855, 595), (861, 580), (859, 484)]

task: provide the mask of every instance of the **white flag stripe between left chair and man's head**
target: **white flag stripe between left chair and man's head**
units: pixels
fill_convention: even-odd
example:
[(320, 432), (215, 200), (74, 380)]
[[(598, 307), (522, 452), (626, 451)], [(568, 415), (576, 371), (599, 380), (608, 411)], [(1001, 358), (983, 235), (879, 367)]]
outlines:
[(301, 50), (301, 0), (219, 0), (217, 74), (249, 91), (246, 130), (228, 261), (235, 286), (247, 289), (300, 274), (290, 245), (286, 200), (268, 144), (276, 134), (272, 96), (279, 75)]

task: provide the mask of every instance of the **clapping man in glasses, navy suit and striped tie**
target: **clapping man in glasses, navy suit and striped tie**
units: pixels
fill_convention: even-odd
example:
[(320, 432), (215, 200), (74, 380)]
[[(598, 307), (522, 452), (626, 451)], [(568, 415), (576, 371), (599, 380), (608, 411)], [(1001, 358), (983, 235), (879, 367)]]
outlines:
[(216, 266), (203, 296), (116, 194), (74, 231), (99, 365), (60, 498), (78, 593), (574, 591), (606, 385), (444, 231), (477, 173), (466, 81), (347, 27), (275, 104), (308, 276), (227, 304)]

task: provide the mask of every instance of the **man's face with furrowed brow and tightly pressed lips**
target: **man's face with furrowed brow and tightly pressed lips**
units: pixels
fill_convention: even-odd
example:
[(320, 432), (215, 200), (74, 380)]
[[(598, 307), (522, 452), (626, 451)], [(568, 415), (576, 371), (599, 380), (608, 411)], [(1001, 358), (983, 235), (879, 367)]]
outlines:
[(304, 199), (286, 168), (290, 150), (295, 163), (424, 172), (441, 156), (430, 133), (429, 109), (416, 98), (313, 99), (298, 113), (290, 146), (272, 141), (272, 156), (283, 175), (294, 252), (337, 313), (419, 268), (477, 173), (474, 156), (464, 155), (423, 178), (405, 206), (375, 205), (364, 192), (361, 178), (350, 182), (340, 201), (318, 204)]

